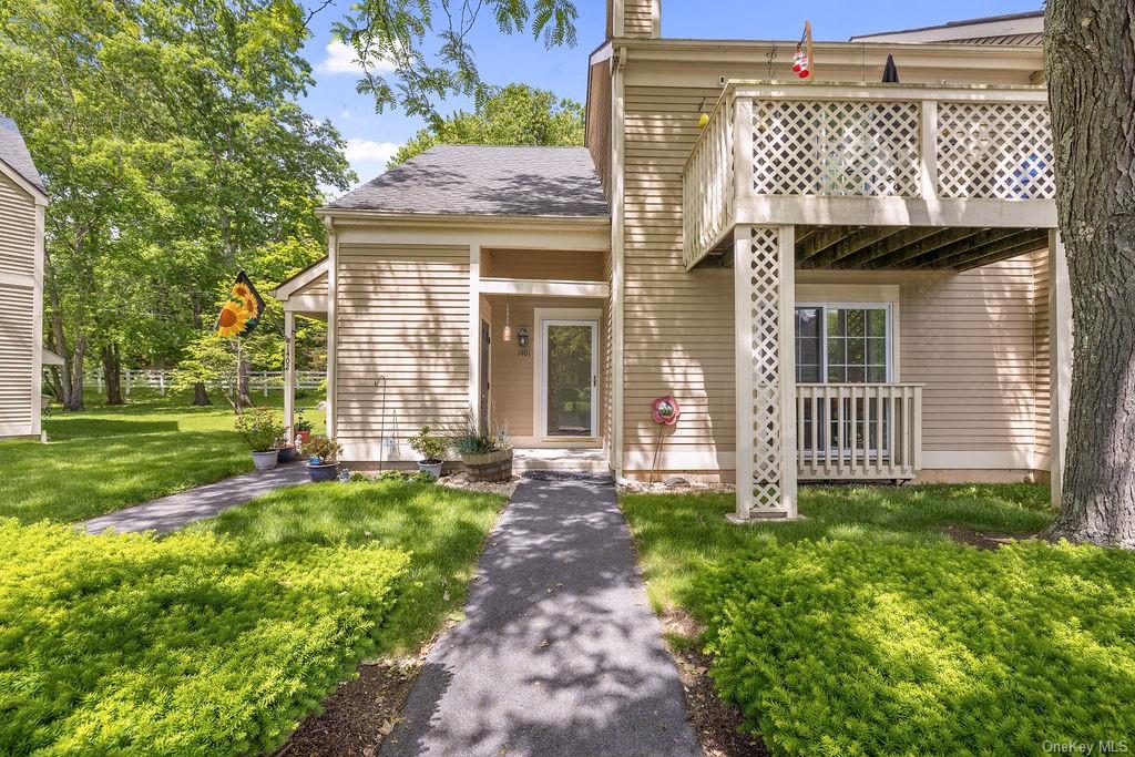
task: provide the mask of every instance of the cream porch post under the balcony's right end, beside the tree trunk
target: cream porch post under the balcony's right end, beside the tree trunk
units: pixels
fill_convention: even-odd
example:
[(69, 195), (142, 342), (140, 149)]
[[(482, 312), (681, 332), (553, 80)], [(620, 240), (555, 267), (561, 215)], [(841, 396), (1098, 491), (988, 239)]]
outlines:
[(1068, 407), (1071, 390), (1071, 291), (1068, 259), (1057, 229), (1049, 230), (1049, 434), (1052, 507), (1059, 510), (1068, 447)]

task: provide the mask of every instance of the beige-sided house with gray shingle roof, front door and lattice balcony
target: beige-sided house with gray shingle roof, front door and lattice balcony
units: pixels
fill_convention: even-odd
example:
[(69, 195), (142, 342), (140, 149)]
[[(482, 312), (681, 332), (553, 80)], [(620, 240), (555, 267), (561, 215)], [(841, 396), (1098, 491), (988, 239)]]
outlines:
[[(987, 43), (1037, 19), (818, 42), (801, 82), (794, 42), (661, 39), (656, 1), (608, 7), (590, 160), (436, 148), (320, 210), (329, 259), (280, 296), (333, 325), (344, 457), (410, 462), (419, 426), (471, 410), (522, 465), (739, 480), (741, 516), (793, 515), (797, 480), (1059, 471), (1042, 52)], [(877, 83), (889, 53), (902, 84)]]

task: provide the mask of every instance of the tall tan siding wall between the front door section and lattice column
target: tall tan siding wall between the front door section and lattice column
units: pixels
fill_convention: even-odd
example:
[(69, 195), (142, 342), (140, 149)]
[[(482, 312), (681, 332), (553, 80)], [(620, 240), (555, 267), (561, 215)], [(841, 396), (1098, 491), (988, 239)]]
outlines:
[(622, 420), (624, 454), (639, 459), (657, 443), (649, 410), (664, 394), (682, 406), (666, 454), (734, 448), (732, 271), (682, 264), (682, 167), (698, 106), (716, 98), (708, 87), (625, 92)]

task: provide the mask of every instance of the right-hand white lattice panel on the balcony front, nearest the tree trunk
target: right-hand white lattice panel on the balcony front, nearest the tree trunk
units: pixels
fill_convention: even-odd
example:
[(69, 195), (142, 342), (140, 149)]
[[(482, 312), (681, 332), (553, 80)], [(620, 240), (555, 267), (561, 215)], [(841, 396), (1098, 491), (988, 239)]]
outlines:
[(1036, 103), (942, 102), (938, 184), (943, 197), (1056, 196), (1049, 110)]

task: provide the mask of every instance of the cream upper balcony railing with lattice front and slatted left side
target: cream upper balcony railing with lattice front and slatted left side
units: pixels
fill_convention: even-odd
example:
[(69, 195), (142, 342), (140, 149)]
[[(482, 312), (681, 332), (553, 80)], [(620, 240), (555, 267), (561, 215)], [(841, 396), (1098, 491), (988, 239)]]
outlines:
[(682, 173), (692, 267), (759, 197), (1051, 200), (1043, 87), (725, 87)]

